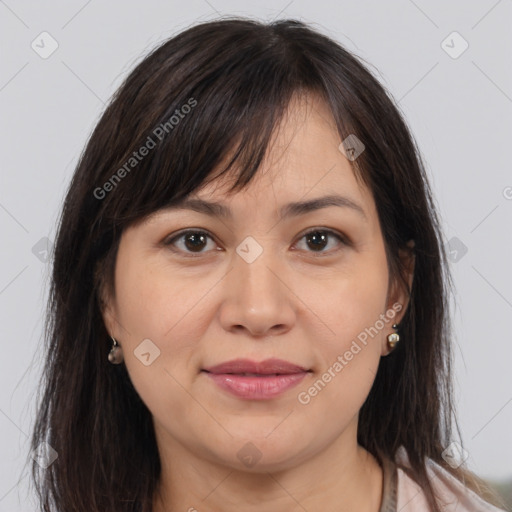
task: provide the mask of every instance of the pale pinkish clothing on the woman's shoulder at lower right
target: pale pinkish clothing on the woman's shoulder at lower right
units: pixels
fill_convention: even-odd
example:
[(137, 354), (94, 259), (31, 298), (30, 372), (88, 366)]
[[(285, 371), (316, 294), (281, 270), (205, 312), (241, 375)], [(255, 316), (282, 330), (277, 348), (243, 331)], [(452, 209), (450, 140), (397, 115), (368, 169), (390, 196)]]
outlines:
[[(402, 447), (397, 462), (410, 467)], [(431, 512), (421, 487), (391, 460), (384, 460), (382, 504), (379, 512)], [(427, 462), (427, 474), (440, 498), (443, 512), (505, 512), (486, 503), (433, 460)]]

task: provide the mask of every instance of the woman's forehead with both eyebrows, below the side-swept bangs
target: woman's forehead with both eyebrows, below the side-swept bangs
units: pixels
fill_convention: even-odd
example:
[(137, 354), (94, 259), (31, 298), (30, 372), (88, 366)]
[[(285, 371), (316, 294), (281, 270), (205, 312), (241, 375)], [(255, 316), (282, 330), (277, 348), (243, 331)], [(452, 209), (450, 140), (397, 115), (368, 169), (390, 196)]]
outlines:
[[(199, 212), (224, 222), (247, 225), (256, 217), (293, 218), (324, 207), (340, 206), (340, 215), (378, 231), (380, 222), (371, 191), (356, 179), (328, 105), (318, 96), (294, 97), (277, 125), (267, 153), (252, 180), (230, 191), (233, 171), (218, 175), (235, 149), (209, 175), (207, 183), (179, 202), (140, 219), (148, 225), (167, 214)], [(343, 146), (341, 145), (343, 148)]]

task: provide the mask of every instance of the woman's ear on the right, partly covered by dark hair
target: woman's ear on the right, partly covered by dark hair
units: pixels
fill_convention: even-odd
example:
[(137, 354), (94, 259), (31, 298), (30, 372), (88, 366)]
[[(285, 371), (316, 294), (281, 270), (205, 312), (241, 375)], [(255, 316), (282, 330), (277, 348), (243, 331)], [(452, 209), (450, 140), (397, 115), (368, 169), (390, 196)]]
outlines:
[[(414, 266), (415, 266), (415, 254), (414, 254), (414, 240), (407, 242), (407, 249), (399, 249), (400, 260), (404, 268), (404, 279), (408, 284), (409, 290), (412, 289), (412, 283), (414, 278)], [(392, 322), (386, 324), (384, 337), (382, 340), (381, 355), (386, 356), (391, 351), (387, 345), (387, 336), (393, 332), (396, 332), (393, 328), (393, 324), (400, 324), (402, 318), (405, 315), (407, 307), (409, 305), (410, 293), (406, 289), (401, 279), (396, 278), (390, 284), (390, 290), (388, 293), (388, 302), (386, 304), (386, 311), (396, 311), (396, 315)]]

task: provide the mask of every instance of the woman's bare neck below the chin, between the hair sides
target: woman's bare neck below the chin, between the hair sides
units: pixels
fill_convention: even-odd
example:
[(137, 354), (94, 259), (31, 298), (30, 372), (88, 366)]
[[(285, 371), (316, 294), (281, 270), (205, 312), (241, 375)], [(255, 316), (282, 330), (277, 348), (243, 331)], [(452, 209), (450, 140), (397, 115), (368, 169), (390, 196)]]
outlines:
[(177, 442), (166, 443), (153, 512), (378, 512), (382, 469), (369, 452), (343, 441), (341, 436), (292, 468), (259, 473), (197, 457)]

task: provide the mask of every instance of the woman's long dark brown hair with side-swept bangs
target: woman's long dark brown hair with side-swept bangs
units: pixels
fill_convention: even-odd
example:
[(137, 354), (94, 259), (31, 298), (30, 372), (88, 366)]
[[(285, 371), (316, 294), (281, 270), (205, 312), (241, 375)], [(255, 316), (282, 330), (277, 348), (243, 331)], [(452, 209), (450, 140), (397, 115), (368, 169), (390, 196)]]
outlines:
[(55, 242), (31, 440), (33, 449), (46, 441), (58, 454), (46, 469), (32, 464), (41, 510), (150, 509), (160, 473), (151, 414), (126, 367), (109, 364), (101, 316), (104, 291), (114, 292), (120, 236), (206, 184), (226, 155), (216, 176), (236, 169), (232, 190), (245, 187), (292, 96), (306, 93), (326, 101), (340, 141), (355, 134), (364, 143), (353, 169), (373, 194), (390, 275), (404, 286), (398, 251), (415, 242), (403, 342), (381, 359), (358, 442), (380, 461), (403, 446), (434, 511), (426, 457), (476, 488), (469, 472), (441, 457), (455, 417), (451, 278), (424, 166), (399, 107), (362, 59), (311, 27), (229, 18), (185, 30), (135, 67), (73, 175)]

